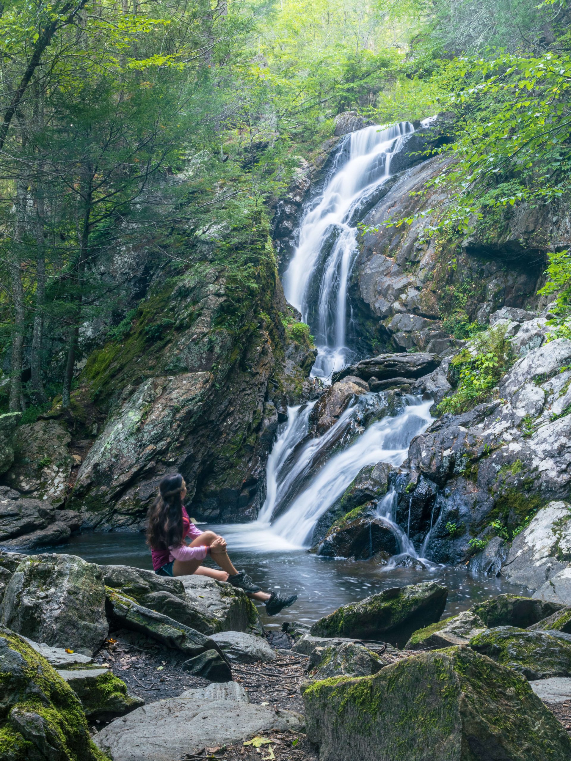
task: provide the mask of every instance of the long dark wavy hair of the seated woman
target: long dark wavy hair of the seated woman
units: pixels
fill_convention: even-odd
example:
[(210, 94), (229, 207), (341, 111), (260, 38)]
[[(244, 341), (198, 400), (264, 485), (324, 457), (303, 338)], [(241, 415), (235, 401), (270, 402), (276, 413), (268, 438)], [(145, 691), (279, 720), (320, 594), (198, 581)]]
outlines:
[(183, 543), (183, 502), (180, 492), (184, 479), (180, 473), (165, 476), (158, 485), (159, 495), (147, 514), (147, 543), (152, 549), (168, 549)]

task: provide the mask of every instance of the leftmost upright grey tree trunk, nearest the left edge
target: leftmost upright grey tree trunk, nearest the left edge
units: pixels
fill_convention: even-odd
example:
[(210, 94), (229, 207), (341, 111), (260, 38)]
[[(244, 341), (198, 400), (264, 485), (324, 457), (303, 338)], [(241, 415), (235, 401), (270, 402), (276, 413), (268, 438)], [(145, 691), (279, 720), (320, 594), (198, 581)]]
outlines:
[(14, 302), (14, 327), (12, 331), (11, 383), (8, 409), (18, 412), (21, 409), (22, 395), (22, 361), (24, 357), (24, 330), (26, 313), (24, 308), (24, 285), (22, 285), (21, 250), (24, 237), (27, 188), (22, 180), (16, 184), (16, 224), (14, 244), (10, 262), (12, 301)]

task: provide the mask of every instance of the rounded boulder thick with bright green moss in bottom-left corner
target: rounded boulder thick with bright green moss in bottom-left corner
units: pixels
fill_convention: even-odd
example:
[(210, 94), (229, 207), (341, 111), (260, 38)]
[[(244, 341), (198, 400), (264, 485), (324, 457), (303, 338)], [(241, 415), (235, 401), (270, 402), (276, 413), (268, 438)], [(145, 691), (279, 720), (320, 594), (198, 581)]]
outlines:
[[(0, 627), (0, 759), (105, 761), (81, 702), (45, 658)], [(107, 759), (108, 761), (108, 759)]]

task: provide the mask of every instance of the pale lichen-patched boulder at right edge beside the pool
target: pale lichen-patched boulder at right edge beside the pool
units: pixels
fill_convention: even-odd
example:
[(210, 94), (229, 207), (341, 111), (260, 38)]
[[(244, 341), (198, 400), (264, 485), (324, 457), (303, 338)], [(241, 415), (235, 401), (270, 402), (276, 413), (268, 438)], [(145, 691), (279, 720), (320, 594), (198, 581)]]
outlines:
[(571, 505), (552, 501), (512, 542), (502, 576), (536, 591), (571, 560)]

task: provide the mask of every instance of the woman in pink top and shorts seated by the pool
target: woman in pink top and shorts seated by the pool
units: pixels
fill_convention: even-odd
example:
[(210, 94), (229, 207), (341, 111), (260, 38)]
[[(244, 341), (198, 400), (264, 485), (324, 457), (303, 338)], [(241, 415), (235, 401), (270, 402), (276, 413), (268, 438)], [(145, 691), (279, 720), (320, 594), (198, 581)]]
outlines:
[[(266, 603), (266, 612), (275, 616), (298, 599), (297, 594), (286, 596), (268, 594), (251, 580), (245, 571), (238, 572), (226, 552), (226, 542), (214, 531), (200, 531), (190, 521), (183, 505), (187, 485), (180, 473), (166, 476), (158, 486), (159, 495), (148, 511), (147, 543), (151, 547), (153, 568), (159, 576), (209, 576), (229, 581), (253, 597)], [(207, 555), (222, 568), (206, 568), (200, 562)]]

